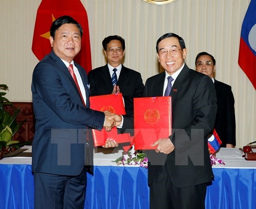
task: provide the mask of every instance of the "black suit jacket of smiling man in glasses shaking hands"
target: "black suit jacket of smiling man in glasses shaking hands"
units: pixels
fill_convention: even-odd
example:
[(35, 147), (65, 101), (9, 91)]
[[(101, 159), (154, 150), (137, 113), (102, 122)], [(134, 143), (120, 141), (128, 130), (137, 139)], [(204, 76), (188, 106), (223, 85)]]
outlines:
[[(163, 95), (165, 72), (148, 78), (145, 83), (145, 97), (157, 97)], [(150, 161), (148, 167), (148, 183), (151, 184), (158, 162), (153, 165), (156, 156), (163, 156), (170, 181), (176, 187), (188, 187), (212, 180), (212, 169), (210, 165), (207, 146), (207, 134), (214, 127), (217, 105), (214, 84), (208, 76), (200, 74), (187, 65), (183, 67), (174, 82), (172, 91), (172, 123), (173, 131), (169, 136), (175, 146), (175, 150), (167, 155), (148, 152)], [(195, 132), (193, 132), (195, 131)], [(187, 140), (191, 140), (193, 133), (198, 149), (190, 147)], [(201, 131), (201, 132), (200, 132)], [(200, 134), (201, 133), (201, 134)], [(201, 147), (200, 147), (201, 145)], [(191, 149), (190, 149), (191, 148)], [(199, 152), (199, 153), (198, 153)], [(155, 153), (154, 158), (151, 154)], [(189, 154), (189, 157), (187, 156)], [(202, 157), (203, 156), (203, 157)], [(191, 161), (202, 159), (203, 166), (196, 166)], [(181, 165), (184, 162), (184, 165)]]

